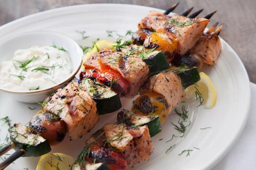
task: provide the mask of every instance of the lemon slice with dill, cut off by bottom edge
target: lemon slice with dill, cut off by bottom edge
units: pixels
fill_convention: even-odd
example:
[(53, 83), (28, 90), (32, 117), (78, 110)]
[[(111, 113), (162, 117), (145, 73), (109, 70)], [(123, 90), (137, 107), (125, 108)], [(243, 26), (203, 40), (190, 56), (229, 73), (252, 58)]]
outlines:
[(70, 170), (75, 159), (61, 153), (45, 154), (38, 161), (36, 170)]

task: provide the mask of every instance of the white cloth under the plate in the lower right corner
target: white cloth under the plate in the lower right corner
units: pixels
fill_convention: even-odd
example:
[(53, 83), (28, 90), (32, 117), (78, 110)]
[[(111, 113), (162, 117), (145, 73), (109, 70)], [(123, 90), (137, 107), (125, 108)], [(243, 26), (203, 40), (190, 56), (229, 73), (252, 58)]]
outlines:
[(241, 137), (212, 170), (256, 169), (256, 84), (251, 83), (251, 93), (250, 115)]

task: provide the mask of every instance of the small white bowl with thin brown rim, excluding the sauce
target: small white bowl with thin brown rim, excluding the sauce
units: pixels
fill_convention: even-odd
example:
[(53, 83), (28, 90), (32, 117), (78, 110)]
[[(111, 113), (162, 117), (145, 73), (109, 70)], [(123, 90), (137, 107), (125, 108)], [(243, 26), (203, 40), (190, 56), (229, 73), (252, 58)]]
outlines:
[(52, 44), (63, 47), (69, 52), (73, 71), (65, 81), (52, 87), (35, 91), (14, 91), (1, 87), (0, 91), (12, 96), (15, 100), (25, 103), (35, 103), (36, 101), (43, 101), (47, 97), (47, 94), (62, 88), (68, 81), (73, 79), (82, 65), (83, 50), (75, 40), (58, 32), (33, 31), (6, 38), (0, 42), (1, 61), (11, 60), (17, 49), (26, 49), (32, 46), (51, 46)]

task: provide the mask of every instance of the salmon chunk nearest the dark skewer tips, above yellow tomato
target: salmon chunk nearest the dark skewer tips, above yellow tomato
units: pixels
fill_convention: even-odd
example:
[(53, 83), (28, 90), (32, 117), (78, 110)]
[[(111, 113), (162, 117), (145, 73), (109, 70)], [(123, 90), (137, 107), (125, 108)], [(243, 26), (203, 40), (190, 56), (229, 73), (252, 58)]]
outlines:
[(209, 20), (204, 18), (190, 19), (186, 16), (173, 15), (165, 21), (163, 28), (175, 34), (178, 40), (178, 54), (184, 55), (193, 48), (204, 33)]

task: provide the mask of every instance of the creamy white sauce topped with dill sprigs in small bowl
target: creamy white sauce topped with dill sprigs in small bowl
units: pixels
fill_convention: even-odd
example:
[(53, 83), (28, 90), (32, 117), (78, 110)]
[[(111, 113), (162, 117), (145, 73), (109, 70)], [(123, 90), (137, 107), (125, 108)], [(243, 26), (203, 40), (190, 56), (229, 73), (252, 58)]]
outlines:
[(64, 81), (72, 72), (69, 53), (64, 50), (50, 46), (16, 50), (12, 60), (0, 63), (0, 87), (29, 91)]

